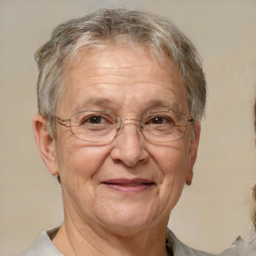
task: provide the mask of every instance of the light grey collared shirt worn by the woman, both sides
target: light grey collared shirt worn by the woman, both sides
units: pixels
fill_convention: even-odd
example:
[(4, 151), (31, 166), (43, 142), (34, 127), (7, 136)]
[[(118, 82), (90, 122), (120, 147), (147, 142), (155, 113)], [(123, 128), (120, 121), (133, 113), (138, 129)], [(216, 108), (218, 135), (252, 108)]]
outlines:
[[(51, 241), (59, 229), (58, 227), (41, 232), (35, 243), (20, 256), (63, 256)], [(169, 230), (166, 230), (166, 249), (170, 256), (212, 256), (207, 253), (186, 246)], [(218, 256), (256, 256), (256, 238), (254, 228), (248, 228), (232, 243), (231, 247)]]

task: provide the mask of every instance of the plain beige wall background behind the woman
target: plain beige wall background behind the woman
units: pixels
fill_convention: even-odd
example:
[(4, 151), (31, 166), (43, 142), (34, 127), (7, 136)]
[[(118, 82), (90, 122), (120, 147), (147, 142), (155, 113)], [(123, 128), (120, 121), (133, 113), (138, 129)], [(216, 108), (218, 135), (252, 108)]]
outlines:
[(186, 244), (219, 252), (249, 223), (245, 187), (256, 176), (256, 1), (0, 0), (0, 255), (18, 255), (63, 218), (59, 185), (33, 140), (33, 53), (59, 22), (103, 6), (166, 16), (203, 58), (207, 117), (192, 185), (184, 188), (169, 225)]

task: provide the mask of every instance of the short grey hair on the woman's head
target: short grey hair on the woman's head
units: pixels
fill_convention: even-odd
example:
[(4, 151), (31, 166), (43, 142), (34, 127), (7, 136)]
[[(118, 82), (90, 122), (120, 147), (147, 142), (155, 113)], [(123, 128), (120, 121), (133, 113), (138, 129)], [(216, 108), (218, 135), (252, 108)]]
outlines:
[(62, 96), (65, 63), (77, 51), (109, 43), (146, 48), (159, 60), (179, 68), (186, 89), (189, 114), (200, 121), (205, 108), (206, 82), (201, 58), (190, 40), (170, 21), (155, 14), (126, 8), (103, 8), (59, 24), (50, 40), (36, 52), (38, 113), (54, 137), (54, 113)]

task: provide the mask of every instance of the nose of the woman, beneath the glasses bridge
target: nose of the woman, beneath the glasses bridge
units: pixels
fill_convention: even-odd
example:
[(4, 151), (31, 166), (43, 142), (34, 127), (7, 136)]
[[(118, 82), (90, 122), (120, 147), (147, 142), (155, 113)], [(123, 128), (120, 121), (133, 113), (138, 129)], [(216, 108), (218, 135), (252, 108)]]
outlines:
[(113, 161), (126, 166), (134, 166), (137, 162), (145, 161), (148, 153), (144, 147), (145, 140), (140, 133), (140, 120), (122, 119), (122, 124), (117, 129), (118, 134), (113, 140), (114, 147), (110, 153)]

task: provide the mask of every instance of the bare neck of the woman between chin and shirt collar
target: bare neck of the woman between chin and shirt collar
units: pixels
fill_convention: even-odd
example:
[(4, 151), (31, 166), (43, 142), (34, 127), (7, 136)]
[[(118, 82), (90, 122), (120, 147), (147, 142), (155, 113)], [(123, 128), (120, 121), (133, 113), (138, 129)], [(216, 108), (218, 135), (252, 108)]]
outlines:
[(67, 256), (166, 256), (165, 238), (165, 223), (124, 235), (65, 218), (52, 242)]

